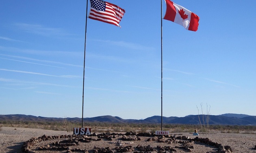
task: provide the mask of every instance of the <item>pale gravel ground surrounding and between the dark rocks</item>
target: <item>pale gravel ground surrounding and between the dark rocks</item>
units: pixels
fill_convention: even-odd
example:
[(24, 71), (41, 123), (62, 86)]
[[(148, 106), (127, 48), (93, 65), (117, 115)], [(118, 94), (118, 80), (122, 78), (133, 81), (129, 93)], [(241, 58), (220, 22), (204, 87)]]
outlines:
[[(15, 130), (16, 129), (16, 130)], [(2, 127), (0, 131), (0, 152), (1, 153), (22, 153), (21, 148), (23, 142), (26, 142), (32, 137), (40, 137), (43, 135), (46, 136), (61, 136), (61, 135), (69, 135), (73, 134), (73, 132), (66, 131), (53, 131), (53, 130), (41, 130), (41, 129), (30, 129), (30, 128), (19, 128), (19, 127)], [(191, 133), (171, 133), (172, 136), (189, 136), (190, 138), (195, 138)], [(97, 137), (93, 137), (97, 139)], [(162, 147), (180, 147), (182, 144), (168, 144), (168, 143), (160, 143), (156, 141), (146, 141), (148, 138), (152, 137), (141, 137), (141, 140), (138, 141), (122, 141), (125, 146), (132, 146), (133, 148), (138, 145), (148, 146), (156, 148), (157, 146)], [(256, 153), (256, 149), (254, 149), (256, 145), (256, 134), (233, 134), (233, 133), (210, 133), (207, 135), (200, 134), (199, 138), (209, 138), (212, 142), (218, 142), (223, 146), (230, 146), (233, 153)], [(67, 151), (39, 151), (39, 147), (46, 147), (47, 144), (52, 144), (52, 142), (61, 141), (67, 138), (59, 139), (59, 140), (47, 140), (43, 142), (37, 143), (33, 146), (32, 151), (36, 153), (66, 153)], [(71, 149), (86, 149), (89, 153), (92, 153), (92, 149), (94, 147), (98, 148), (106, 148), (109, 147), (115, 152), (115, 147), (117, 147), (117, 142), (121, 139), (121, 136), (117, 136), (112, 141), (110, 140), (100, 140), (100, 141), (91, 141), (89, 143), (80, 143), (76, 146), (70, 146)], [(195, 142), (193, 144), (194, 149), (192, 153), (215, 153), (217, 152), (217, 148), (210, 147), (206, 144), (202, 144), (199, 142)], [(187, 152), (181, 148), (176, 149), (176, 153), (185, 153)], [(156, 151), (154, 151), (156, 153)], [(152, 153), (154, 153), (152, 151)], [(133, 153), (133, 152), (132, 152)]]

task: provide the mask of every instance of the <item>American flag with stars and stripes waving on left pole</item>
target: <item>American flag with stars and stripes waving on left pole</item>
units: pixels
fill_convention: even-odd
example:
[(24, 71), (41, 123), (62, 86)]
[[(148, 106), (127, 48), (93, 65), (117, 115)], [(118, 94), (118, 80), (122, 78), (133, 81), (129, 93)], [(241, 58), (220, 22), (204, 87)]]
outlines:
[(90, 19), (119, 26), (119, 22), (124, 16), (124, 13), (124, 9), (115, 4), (111, 4), (103, 0), (91, 0), (91, 10), (89, 14)]

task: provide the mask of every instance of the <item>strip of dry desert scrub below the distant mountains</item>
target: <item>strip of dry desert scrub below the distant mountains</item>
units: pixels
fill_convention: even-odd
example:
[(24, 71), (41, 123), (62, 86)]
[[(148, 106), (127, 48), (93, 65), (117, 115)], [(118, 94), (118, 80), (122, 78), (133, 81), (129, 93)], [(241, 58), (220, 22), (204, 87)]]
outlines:
[[(204, 115), (204, 116), (207, 116)], [(72, 132), (74, 127), (81, 127), (81, 123), (68, 120), (61, 121), (0, 121), (1, 127), (27, 127), (45, 130), (65, 130)], [(202, 122), (203, 124), (203, 122)], [(207, 125), (206, 125), (207, 126)], [(83, 127), (90, 127), (93, 132), (151, 132), (161, 130), (160, 123), (112, 123), (112, 122), (84, 122)], [(200, 133), (206, 132), (222, 132), (222, 133), (245, 133), (256, 134), (256, 126), (254, 125), (208, 125), (207, 128), (201, 129), (201, 125), (191, 124), (171, 124), (164, 123), (163, 130), (170, 132), (193, 132), (197, 129)]]

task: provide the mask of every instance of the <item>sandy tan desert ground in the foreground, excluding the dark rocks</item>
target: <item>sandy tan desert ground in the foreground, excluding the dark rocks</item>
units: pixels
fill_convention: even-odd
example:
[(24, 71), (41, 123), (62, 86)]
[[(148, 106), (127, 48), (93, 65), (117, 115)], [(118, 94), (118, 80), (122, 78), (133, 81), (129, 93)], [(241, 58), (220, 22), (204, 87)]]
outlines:
[[(0, 152), (1, 153), (22, 153), (22, 146), (24, 142), (27, 142), (31, 138), (39, 138), (43, 135), (45, 136), (63, 136), (63, 135), (72, 135), (73, 132), (66, 131), (53, 131), (53, 130), (41, 130), (41, 129), (31, 129), (31, 128), (22, 128), (22, 127), (2, 127), (0, 131)], [(178, 138), (178, 136), (189, 136), (190, 139), (195, 138), (192, 133), (189, 132), (181, 132), (181, 133), (170, 133), (174, 138)], [(71, 145), (67, 149), (64, 150), (54, 150), (52, 149), (53, 144), (56, 142), (63, 142), (64, 140), (70, 140), (74, 138), (56, 138), (52, 140), (45, 140), (42, 142), (37, 142), (33, 147), (30, 148), (30, 151), (34, 153), (67, 153), (67, 152), (87, 152), (87, 153), (95, 153), (96, 149), (98, 153), (103, 153), (104, 149), (111, 150), (113, 153), (123, 152), (120, 149), (125, 147), (130, 147), (132, 150), (127, 150), (126, 152), (130, 153), (139, 153), (146, 152), (143, 150), (139, 150), (139, 147), (150, 147), (154, 150), (148, 151), (148, 153), (217, 153), (217, 147), (210, 146), (208, 144), (204, 144), (201, 142), (189, 142), (191, 149), (184, 149), (184, 144), (174, 142), (170, 143), (170, 141), (160, 142), (159, 140), (152, 140), (153, 136), (138, 136), (140, 140), (126, 140), (124, 141), (122, 138), (124, 136), (116, 135), (113, 138), (106, 139), (97, 136), (91, 136), (91, 141), (89, 142), (79, 142), (77, 144)], [(134, 138), (135, 136), (127, 136), (127, 138)], [(256, 145), (256, 134), (243, 134), (243, 133), (221, 133), (221, 132), (210, 132), (209, 134), (200, 134), (199, 138), (208, 138), (212, 142), (217, 142), (222, 146), (230, 146), (230, 150), (226, 150), (226, 153), (256, 153), (255, 145)], [(80, 137), (80, 139), (86, 139), (85, 136)], [(90, 138), (90, 137), (87, 137)], [(79, 138), (78, 138), (79, 139)], [(78, 140), (77, 139), (77, 140)], [(148, 141), (151, 139), (151, 141)], [(165, 138), (168, 140), (170, 138)], [(121, 145), (122, 144), (122, 145)], [(159, 151), (159, 147), (162, 148)], [(163, 149), (163, 148), (171, 148), (171, 150)], [(40, 149), (41, 148), (41, 149)], [(48, 149), (47, 149), (48, 148)], [(51, 148), (51, 149), (50, 149)], [(54, 147), (55, 148), (55, 147)], [(67, 147), (66, 147), (67, 148)], [(102, 149), (104, 148), (104, 149)], [(119, 148), (119, 150), (118, 150)], [(80, 150), (78, 150), (80, 149)], [(93, 150), (94, 149), (94, 150)], [(167, 151), (166, 151), (167, 150)], [(222, 152), (224, 152), (222, 150)]]

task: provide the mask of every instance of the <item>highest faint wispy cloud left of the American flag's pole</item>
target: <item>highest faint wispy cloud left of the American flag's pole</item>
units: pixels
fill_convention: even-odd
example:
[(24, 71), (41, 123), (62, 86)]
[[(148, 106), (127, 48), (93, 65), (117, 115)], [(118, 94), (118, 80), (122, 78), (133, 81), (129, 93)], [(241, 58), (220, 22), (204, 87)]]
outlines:
[(41, 36), (70, 36), (63, 28), (50, 28), (39, 24), (15, 23), (20, 30)]

